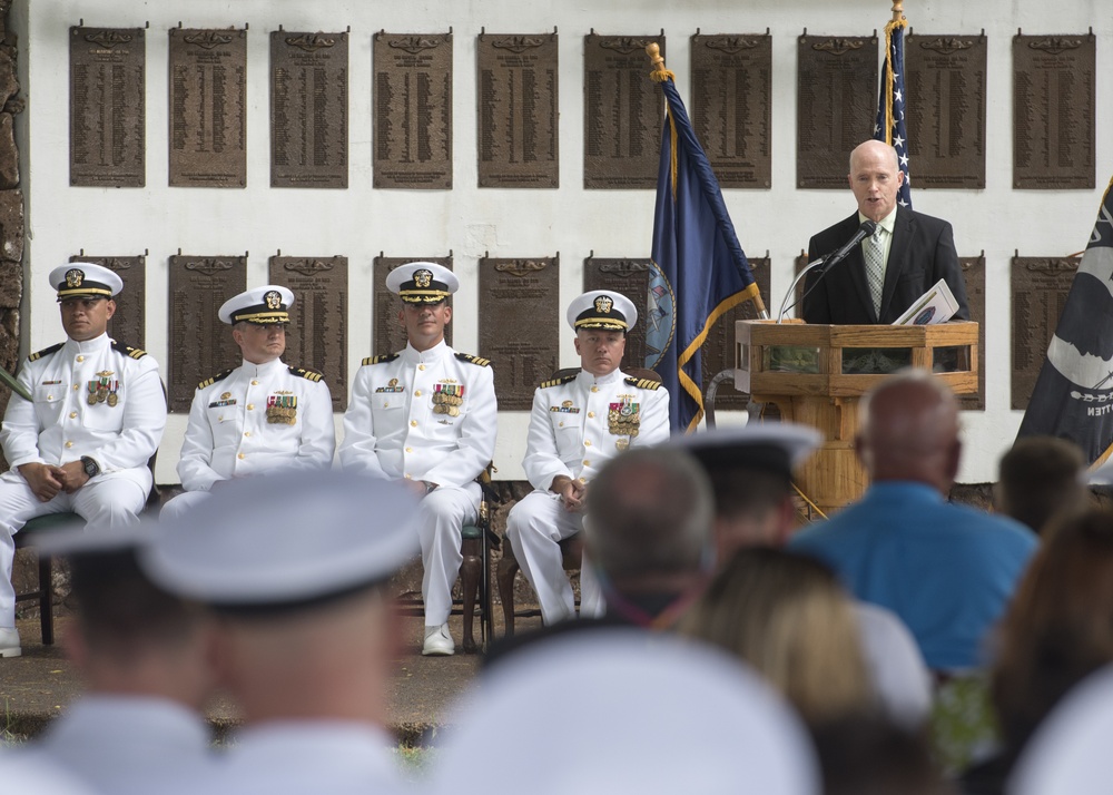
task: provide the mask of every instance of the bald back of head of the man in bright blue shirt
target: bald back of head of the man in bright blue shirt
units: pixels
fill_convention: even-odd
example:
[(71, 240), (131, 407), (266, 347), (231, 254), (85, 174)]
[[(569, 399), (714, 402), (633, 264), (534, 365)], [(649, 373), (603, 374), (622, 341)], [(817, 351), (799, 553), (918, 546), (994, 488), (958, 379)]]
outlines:
[(861, 399), (855, 446), (874, 482), (906, 480), (949, 491), (958, 473), (958, 402), (926, 370), (907, 370)]

